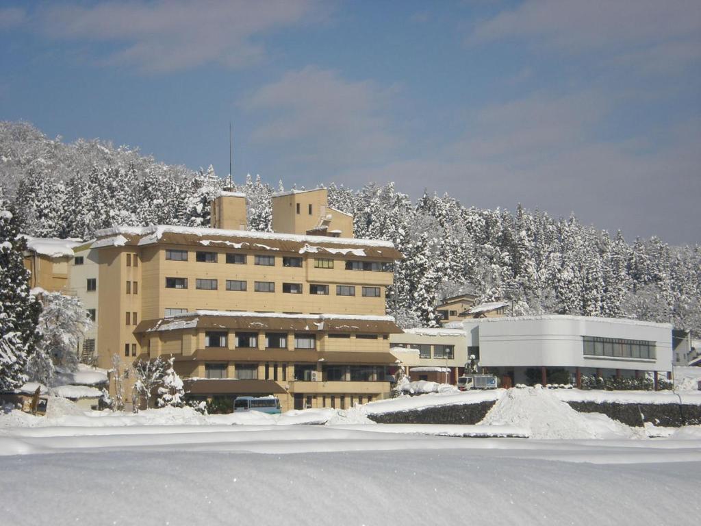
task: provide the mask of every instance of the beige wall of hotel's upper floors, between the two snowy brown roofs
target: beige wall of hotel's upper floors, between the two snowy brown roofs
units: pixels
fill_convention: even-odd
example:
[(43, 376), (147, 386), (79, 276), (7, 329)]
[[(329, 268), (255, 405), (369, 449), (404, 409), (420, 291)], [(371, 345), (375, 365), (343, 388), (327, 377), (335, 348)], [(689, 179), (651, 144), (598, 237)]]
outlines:
[[(188, 250), (188, 260), (165, 259), (166, 249)], [(216, 263), (196, 261), (196, 252), (217, 252)], [(315, 255), (302, 257), (302, 267), (283, 267), (283, 253), (256, 250), (234, 250), (205, 246), (149, 245), (139, 248), (142, 254), (142, 319), (162, 318), (165, 309), (213, 309), (222, 311), (259, 311), (290, 313), (385, 313), (385, 289), (392, 283), (391, 272), (347, 271), (346, 259), (333, 258), (333, 269), (314, 267)], [(227, 264), (226, 252), (245, 254), (246, 264)], [(255, 255), (274, 255), (275, 266), (254, 264)], [(187, 278), (188, 288), (165, 288), (165, 278)], [(217, 290), (198, 290), (196, 279), (216, 279)], [(247, 290), (226, 290), (226, 280), (247, 282)], [(255, 292), (255, 281), (272, 281), (275, 292)], [(283, 283), (301, 283), (302, 294), (283, 292)], [(310, 284), (329, 285), (329, 295), (311, 295)], [(336, 285), (355, 285), (355, 296), (337, 296)], [(363, 297), (362, 287), (379, 287), (380, 297)]]

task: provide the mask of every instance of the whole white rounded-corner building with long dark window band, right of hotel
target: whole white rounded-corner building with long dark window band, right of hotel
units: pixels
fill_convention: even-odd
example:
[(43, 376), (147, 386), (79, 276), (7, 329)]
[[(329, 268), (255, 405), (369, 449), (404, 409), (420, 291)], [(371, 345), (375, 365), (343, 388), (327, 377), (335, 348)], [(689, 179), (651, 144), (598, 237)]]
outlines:
[(482, 318), (463, 322), (479, 365), (515, 383), (540, 370), (581, 375), (639, 376), (672, 371), (672, 325), (588, 316)]

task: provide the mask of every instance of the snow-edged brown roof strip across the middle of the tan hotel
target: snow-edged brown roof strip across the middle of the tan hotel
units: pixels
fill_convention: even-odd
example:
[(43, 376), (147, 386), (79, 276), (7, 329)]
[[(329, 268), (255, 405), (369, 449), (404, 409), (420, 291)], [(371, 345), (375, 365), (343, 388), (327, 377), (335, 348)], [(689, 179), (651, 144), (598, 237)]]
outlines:
[(233, 328), (247, 330), (293, 330), (397, 333), (401, 329), (392, 316), (353, 314), (284, 314), (275, 312), (231, 312), (198, 310), (168, 318), (146, 320), (134, 332), (161, 332), (193, 328)]

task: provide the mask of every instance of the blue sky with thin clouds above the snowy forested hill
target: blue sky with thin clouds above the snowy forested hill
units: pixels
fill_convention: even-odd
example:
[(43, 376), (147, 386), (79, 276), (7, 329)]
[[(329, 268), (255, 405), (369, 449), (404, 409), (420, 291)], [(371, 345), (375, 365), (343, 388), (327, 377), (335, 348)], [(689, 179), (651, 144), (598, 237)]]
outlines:
[(696, 0), (4, 1), (0, 119), (701, 243)]

